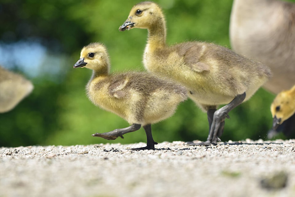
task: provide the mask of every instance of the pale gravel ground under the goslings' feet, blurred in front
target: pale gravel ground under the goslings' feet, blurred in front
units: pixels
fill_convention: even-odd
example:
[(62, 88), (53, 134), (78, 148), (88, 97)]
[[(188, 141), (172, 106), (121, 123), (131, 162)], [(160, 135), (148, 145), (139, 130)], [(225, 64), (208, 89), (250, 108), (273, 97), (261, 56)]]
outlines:
[(295, 140), (0, 147), (0, 196), (294, 196)]

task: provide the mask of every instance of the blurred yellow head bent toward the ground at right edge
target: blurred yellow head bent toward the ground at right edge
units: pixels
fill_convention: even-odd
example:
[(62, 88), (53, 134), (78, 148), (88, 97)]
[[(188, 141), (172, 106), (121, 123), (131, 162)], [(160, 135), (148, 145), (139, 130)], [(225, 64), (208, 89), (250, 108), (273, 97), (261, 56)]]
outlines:
[(289, 119), (295, 113), (295, 97), (290, 94), (289, 90), (277, 94), (270, 106), (273, 116), (273, 129)]

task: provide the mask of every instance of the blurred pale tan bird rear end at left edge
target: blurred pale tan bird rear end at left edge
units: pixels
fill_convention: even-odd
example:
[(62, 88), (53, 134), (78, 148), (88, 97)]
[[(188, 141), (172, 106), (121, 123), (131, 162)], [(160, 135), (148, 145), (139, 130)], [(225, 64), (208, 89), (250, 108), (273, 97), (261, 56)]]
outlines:
[(12, 110), (33, 88), (33, 84), (22, 75), (0, 66), (0, 113)]

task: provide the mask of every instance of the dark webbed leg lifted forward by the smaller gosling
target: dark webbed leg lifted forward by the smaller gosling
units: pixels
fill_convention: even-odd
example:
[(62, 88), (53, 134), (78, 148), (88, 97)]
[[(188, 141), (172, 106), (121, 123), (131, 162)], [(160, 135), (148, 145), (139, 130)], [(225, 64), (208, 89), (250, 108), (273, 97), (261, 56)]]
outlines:
[(124, 138), (123, 137), (124, 134), (137, 131), (140, 129), (140, 127), (141, 127), (140, 124), (132, 124), (131, 126), (126, 128), (115, 129), (114, 131), (110, 131), (106, 133), (96, 133), (96, 134), (92, 134), (92, 136), (101, 137), (108, 140), (117, 139), (117, 137)]

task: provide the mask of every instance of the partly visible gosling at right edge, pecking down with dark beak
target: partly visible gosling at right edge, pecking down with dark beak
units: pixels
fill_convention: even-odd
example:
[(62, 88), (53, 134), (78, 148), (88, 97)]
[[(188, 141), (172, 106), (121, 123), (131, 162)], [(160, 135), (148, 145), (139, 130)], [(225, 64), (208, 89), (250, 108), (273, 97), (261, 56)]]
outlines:
[(269, 131), (268, 138), (272, 138), (275, 131), (280, 130), (290, 136), (295, 131), (295, 85), (290, 90), (277, 94), (270, 111), (273, 116), (273, 130)]

